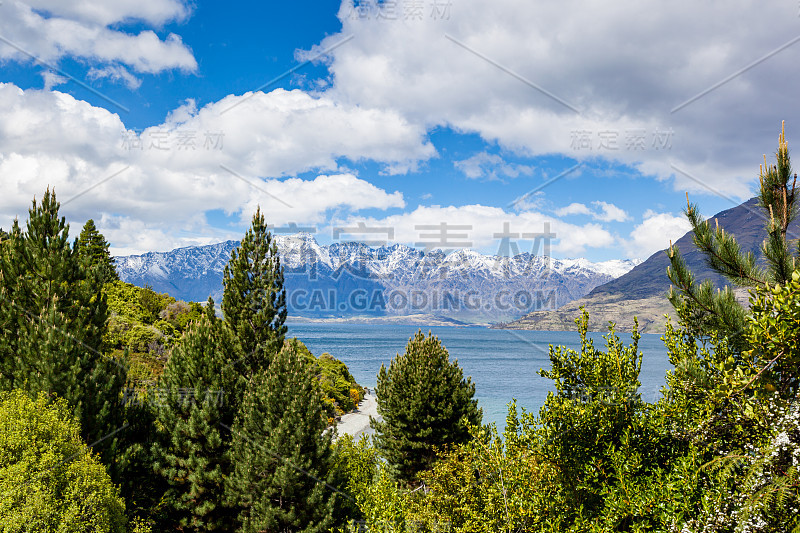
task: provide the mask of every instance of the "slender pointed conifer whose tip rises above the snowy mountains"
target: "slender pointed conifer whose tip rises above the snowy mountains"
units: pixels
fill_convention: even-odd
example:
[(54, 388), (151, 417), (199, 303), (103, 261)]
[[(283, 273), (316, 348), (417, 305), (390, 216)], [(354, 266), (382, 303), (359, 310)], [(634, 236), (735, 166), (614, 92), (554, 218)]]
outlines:
[(245, 353), (244, 375), (269, 366), (286, 335), (286, 291), (278, 248), (261, 209), (222, 277), (222, 312)]

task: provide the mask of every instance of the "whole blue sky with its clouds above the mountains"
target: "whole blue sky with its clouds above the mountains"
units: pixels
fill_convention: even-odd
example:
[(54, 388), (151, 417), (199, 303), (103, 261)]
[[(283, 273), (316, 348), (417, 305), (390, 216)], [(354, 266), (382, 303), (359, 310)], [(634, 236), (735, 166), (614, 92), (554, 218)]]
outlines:
[(753, 195), (783, 119), (791, 149), (797, 10), (4, 2), (0, 226), (52, 186), (117, 254), (238, 238), (260, 205), (324, 243), (445, 223), (494, 253), (548, 224), (556, 257), (645, 259), (686, 191), (708, 215)]

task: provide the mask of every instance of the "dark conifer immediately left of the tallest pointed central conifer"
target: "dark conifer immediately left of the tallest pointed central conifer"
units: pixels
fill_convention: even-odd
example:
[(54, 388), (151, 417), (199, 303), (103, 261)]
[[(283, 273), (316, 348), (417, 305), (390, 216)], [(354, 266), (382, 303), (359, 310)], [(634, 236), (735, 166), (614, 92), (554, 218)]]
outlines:
[(165, 501), (172, 525), (184, 531), (228, 531), (236, 521), (236, 510), (224, 503), (231, 471), (225, 427), (233, 424), (242, 386), (230, 358), (239, 358), (236, 343), (209, 298), (151, 392), (163, 436), (154, 446), (155, 469), (170, 485)]

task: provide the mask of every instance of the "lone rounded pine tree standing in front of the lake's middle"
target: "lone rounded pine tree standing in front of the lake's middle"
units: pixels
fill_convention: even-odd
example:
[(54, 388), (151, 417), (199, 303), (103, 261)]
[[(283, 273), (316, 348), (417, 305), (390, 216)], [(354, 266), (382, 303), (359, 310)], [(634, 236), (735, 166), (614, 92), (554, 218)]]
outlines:
[(469, 426), (481, 422), (472, 380), (464, 379), (438, 338), (422, 331), (388, 370), (381, 366), (375, 391), (383, 417), (372, 420), (376, 446), (392, 473), (408, 483), (430, 468), (438, 448), (466, 442)]

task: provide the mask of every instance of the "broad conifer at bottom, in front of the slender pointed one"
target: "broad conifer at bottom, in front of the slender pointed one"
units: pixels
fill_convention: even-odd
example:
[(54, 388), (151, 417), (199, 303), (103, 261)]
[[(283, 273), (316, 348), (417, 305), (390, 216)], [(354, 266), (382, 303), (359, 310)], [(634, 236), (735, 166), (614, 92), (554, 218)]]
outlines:
[(342, 495), (316, 376), (293, 348), (249, 377), (231, 428), (230, 501), (243, 532), (329, 531)]

